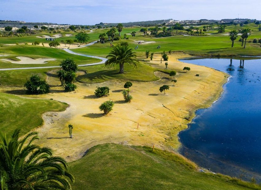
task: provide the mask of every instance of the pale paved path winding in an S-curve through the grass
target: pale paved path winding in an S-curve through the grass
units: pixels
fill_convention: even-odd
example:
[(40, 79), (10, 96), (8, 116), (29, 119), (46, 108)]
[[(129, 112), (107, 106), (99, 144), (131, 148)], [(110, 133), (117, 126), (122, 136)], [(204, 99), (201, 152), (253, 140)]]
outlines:
[[(91, 46), (93, 44), (95, 44), (97, 41), (91, 42), (89, 44), (86, 44), (84, 46), (80, 46), (80, 47), (76, 47), (76, 48), (83, 48), (83, 47), (87, 47), (87, 46)], [(71, 49), (76, 49), (76, 48), (71, 48)], [(84, 57), (91, 57), (91, 58), (96, 58), (96, 59), (101, 59), (100, 62), (98, 63), (89, 63), (89, 64), (84, 64), (84, 65), (78, 65), (78, 66), (92, 66), (92, 65), (99, 65), (99, 64), (103, 64), (105, 63), (105, 61), (107, 60), (104, 57), (98, 57), (98, 56), (92, 56), (92, 55), (85, 55), (85, 54), (80, 54), (80, 53), (75, 53), (69, 49), (63, 49), (64, 51), (66, 51), (67, 53), (73, 54), (73, 55), (80, 55), (80, 56), (84, 56)], [(60, 67), (60, 66), (38, 66), (38, 67), (23, 67), (23, 68), (6, 68), (6, 69), (0, 69), (0, 70), (20, 70), (20, 69), (45, 69), (45, 68), (56, 68), (56, 67)]]

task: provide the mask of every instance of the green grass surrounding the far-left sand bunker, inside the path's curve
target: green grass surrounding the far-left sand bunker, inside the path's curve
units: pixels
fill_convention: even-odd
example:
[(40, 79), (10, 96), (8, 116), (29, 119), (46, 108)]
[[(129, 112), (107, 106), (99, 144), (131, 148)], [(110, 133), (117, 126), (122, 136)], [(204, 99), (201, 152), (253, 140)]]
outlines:
[[(72, 55), (64, 50), (57, 48), (47, 48), (34, 45), (15, 45), (0, 47), (0, 54), (9, 55), (0, 57), (0, 68), (21, 68), (21, 67), (38, 67), (38, 66), (58, 66), (59, 63), (66, 58), (73, 58), (77, 64), (88, 64), (99, 62), (99, 59)], [(17, 56), (25, 56), (33, 59), (37, 58), (54, 58), (55, 61), (49, 61), (45, 64), (15, 64), (15, 63), (5, 63), (1, 59), (13, 59), (19, 60)], [(1, 82), (0, 82), (1, 83)]]

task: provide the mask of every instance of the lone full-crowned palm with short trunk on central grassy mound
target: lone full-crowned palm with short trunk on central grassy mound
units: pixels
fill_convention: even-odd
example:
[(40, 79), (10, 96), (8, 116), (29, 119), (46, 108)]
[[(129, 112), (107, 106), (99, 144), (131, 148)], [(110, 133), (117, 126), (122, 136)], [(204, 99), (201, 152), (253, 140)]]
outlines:
[(120, 44), (113, 47), (112, 51), (106, 58), (111, 57), (105, 62), (105, 66), (120, 66), (120, 74), (124, 73), (124, 63), (128, 63), (129, 65), (137, 68), (137, 64), (139, 63), (135, 58), (137, 57), (132, 49), (129, 47), (127, 42), (121, 42)]

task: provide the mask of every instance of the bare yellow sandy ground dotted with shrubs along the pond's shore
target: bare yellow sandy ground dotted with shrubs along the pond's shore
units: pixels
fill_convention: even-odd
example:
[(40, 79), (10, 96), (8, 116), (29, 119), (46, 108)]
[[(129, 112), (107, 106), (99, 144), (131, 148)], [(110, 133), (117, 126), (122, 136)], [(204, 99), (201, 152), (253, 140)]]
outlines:
[[(44, 125), (37, 128), (40, 144), (51, 147), (56, 155), (68, 161), (79, 159), (90, 147), (102, 143), (123, 143), (147, 145), (162, 149), (177, 150), (180, 143), (177, 134), (185, 129), (200, 107), (209, 106), (222, 92), (227, 75), (204, 66), (191, 65), (177, 61), (184, 57), (181, 53), (170, 55), (169, 69), (179, 71), (173, 83), (167, 74), (156, 72), (161, 79), (156, 82), (133, 82), (130, 94), (131, 103), (123, 101), (123, 85), (126, 81), (112, 80), (98, 84), (77, 83), (76, 92), (64, 93), (59, 87), (52, 87), (46, 95), (29, 96), (53, 98), (70, 105), (64, 112), (45, 113)], [(157, 67), (165, 68), (156, 57)], [(184, 66), (191, 71), (183, 72)], [(200, 74), (196, 77), (196, 74)], [(224, 77), (226, 76), (226, 77)], [(56, 78), (48, 82), (59, 85)], [(170, 85), (166, 94), (159, 92), (162, 85)], [(96, 86), (108, 86), (108, 97), (96, 98)], [(28, 96), (27, 96), (28, 97)], [(104, 116), (99, 105), (113, 100), (113, 111)], [(68, 138), (68, 124), (73, 125), (73, 139)], [(139, 127), (137, 129), (137, 126)]]

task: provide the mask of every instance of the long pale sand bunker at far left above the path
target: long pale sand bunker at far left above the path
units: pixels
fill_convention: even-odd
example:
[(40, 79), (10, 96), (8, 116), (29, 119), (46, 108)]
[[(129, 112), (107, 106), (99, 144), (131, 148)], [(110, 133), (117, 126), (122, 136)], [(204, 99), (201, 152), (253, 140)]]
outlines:
[(46, 61), (54, 61), (56, 59), (49, 59), (49, 58), (39, 58), (39, 59), (32, 59), (29, 57), (23, 57), (23, 56), (18, 56), (16, 57), (18, 59), (20, 59), (20, 61), (14, 61), (12, 59), (0, 59), (3, 62), (11, 62), (11, 63), (15, 63), (15, 64), (45, 64), (47, 63)]

